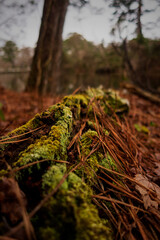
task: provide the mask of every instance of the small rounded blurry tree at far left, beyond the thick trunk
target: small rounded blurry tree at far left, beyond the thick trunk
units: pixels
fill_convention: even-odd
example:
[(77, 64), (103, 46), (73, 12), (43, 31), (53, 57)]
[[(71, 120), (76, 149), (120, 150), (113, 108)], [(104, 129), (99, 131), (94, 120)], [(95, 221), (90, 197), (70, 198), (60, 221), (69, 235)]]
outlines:
[(15, 58), (18, 52), (17, 45), (12, 41), (7, 41), (2, 47), (2, 59), (15, 67)]

